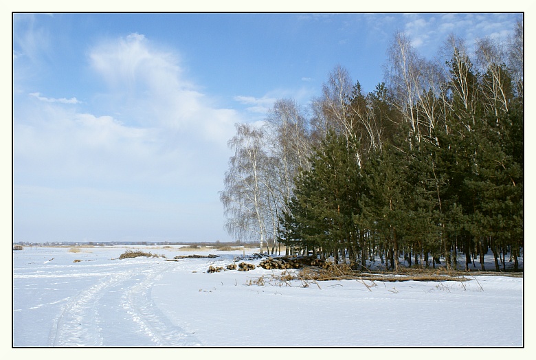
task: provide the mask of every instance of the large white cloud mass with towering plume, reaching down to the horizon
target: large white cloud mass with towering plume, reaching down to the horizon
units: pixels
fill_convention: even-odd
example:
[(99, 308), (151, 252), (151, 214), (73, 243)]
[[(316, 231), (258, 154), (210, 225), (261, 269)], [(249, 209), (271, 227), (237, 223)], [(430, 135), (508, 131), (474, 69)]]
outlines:
[[(212, 106), (184, 78), (178, 54), (141, 34), (102, 42), (88, 54), (94, 78), (104, 80), (105, 87), (88, 95), (84, 113), (71, 106), (80, 103), (77, 98), (50, 98), (42, 95), (45, 90), (17, 98), (14, 197), (25, 200), (15, 204), (16, 231), (32, 226), (24, 220), (30, 213), (49, 219), (41, 225), (50, 229), (63, 227), (58, 216), (88, 224), (89, 218), (80, 216), (91, 216), (95, 232), (109, 216), (122, 214), (124, 224), (114, 229), (118, 234), (150, 216), (150, 236), (166, 227), (175, 238), (187, 232), (190, 239), (221, 237), (218, 191), (230, 156), (227, 140), (234, 123), (241, 122), (239, 114)], [(27, 187), (36, 195), (25, 196)], [(50, 207), (55, 216), (47, 215)], [(129, 234), (139, 236), (134, 233)]]

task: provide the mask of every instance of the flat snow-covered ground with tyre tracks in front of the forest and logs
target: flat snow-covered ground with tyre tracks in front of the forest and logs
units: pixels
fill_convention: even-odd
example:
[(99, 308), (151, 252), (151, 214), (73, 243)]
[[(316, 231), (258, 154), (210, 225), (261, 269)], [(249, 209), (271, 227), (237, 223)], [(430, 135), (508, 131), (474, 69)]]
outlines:
[[(281, 271), (261, 268), (206, 273), (243, 251), (133, 248), (167, 259), (219, 257), (119, 260), (125, 247), (13, 251), (12, 346), (524, 346), (523, 278), (284, 284), (270, 280)], [(250, 284), (263, 275), (263, 286)]]

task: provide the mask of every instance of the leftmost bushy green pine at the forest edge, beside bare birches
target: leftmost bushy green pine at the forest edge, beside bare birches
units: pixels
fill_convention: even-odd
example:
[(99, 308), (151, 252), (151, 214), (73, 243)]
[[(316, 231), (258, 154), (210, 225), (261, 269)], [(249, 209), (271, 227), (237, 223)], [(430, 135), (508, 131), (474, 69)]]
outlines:
[(328, 131), (310, 159), (311, 170), (295, 178), (289, 211), (280, 221), (282, 243), (317, 248), (324, 256), (333, 255), (336, 262), (346, 261), (347, 250), (356, 254), (351, 241), (355, 236), (353, 215), (359, 212), (355, 149), (346, 137)]

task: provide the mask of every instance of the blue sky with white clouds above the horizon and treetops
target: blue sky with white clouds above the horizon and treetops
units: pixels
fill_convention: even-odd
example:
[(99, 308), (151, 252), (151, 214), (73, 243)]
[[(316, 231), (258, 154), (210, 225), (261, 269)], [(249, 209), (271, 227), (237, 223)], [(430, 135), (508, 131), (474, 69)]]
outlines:
[(306, 106), (337, 65), (365, 92), (405, 32), (506, 38), (519, 13), (15, 13), (12, 240), (233, 241), (234, 124)]

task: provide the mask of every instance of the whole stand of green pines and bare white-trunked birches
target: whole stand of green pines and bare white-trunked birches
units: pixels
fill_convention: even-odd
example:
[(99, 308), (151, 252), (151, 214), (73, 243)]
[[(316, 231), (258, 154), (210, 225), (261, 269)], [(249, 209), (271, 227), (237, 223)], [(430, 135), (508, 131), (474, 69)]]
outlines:
[[(322, 95), (277, 100), (263, 126), (236, 124), (220, 192), (225, 228), (260, 249), (366, 269), (379, 256), (495, 269), (524, 244), (523, 23), (472, 52), (449, 36), (427, 60), (403, 33), (364, 93), (335, 67)], [(506, 256), (509, 256), (507, 259)]]

